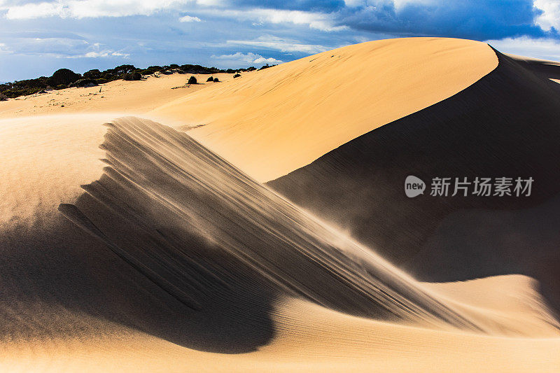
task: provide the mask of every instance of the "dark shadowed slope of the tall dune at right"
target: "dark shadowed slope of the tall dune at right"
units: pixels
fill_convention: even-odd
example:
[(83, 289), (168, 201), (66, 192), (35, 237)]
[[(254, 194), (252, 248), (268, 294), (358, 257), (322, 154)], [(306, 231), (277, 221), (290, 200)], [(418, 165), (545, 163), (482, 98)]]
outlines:
[[(526, 274), (558, 309), (560, 85), (496, 53), (498, 68), (462, 92), (268, 185), (420, 279)], [(405, 196), (408, 175), (424, 195)], [(531, 196), (430, 196), (434, 177), (477, 176), (532, 177)]]

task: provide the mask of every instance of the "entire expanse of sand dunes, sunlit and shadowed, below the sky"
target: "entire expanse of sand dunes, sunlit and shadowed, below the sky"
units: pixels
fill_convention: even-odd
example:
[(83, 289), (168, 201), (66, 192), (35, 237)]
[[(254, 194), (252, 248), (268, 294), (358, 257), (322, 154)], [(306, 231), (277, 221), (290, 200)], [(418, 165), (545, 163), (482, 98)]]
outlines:
[[(107, 85), (115, 104), (92, 112), (77, 89), (60, 91), (76, 100), (66, 115), (0, 103), (0, 371), (557, 372), (560, 85), (539, 66), (414, 38), (201, 86), (156, 111), (149, 90), (120, 96), (171, 90), (158, 78)], [(402, 190), (409, 173), (499, 171), (533, 176), (533, 196)]]

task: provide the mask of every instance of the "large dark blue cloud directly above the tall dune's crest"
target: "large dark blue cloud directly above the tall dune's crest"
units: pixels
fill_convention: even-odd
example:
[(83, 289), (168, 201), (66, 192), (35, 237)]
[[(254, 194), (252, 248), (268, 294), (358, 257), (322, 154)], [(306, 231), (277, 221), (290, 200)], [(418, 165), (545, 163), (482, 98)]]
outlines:
[(337, 12), (337, 24), (398, 36), (452, 36), (484, 40), (547, 36), (535, 24), (541, 11), (533, 0), (356, 1)]

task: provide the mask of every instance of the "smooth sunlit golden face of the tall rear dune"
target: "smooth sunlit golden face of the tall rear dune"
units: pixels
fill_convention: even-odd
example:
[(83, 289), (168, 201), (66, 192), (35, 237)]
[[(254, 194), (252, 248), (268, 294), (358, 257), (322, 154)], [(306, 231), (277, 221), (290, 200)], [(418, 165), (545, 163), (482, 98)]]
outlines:
[(465, 89), (496, 64), (477, 41), (371, 41), (243, 74), (149, 115), (197, 126), (191, 136), (268, 181)]

